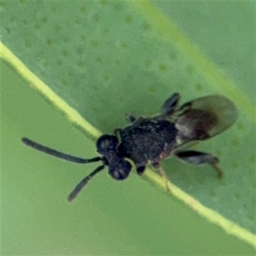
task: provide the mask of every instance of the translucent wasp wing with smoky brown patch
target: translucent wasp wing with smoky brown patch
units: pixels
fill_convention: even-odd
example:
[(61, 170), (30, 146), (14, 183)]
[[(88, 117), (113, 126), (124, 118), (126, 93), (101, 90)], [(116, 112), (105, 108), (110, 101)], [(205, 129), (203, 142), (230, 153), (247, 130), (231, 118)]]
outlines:
[(226, 97), (211, 95), (191, 100), (177, 111), (175, 125), (180, 143), (206, 140), (231, 127), (237, 119), (237, 108)]

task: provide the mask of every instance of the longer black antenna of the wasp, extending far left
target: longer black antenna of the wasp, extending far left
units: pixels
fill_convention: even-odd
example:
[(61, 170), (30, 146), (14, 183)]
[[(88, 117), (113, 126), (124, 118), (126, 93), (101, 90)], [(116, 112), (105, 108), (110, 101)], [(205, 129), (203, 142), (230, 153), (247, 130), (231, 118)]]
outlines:
[(54, 157), (58, 157), (60, 159), (74, 162), (74, 163), (87, 164), (87, 163), (92, 163), (92, 162), (97, 162), (97, 161), (102, 160), (101, 157), (94, 157), (92, 159), (83, 159), (83, 158), (76, 157), (76, 156), (70, 156), (68, 154), (62, 153), (62, 152), (54, 150), (52, 148), (45, 147), (44, 145), (36, 143), (35, 141), (29, 140), (28, 138), (22, 138), (22, 142), (31, 148), (35, 148), (36, 150), (44, 152), (45, 154), (48, 154), (48, 155), (51, 155)]

